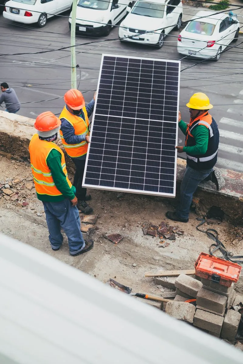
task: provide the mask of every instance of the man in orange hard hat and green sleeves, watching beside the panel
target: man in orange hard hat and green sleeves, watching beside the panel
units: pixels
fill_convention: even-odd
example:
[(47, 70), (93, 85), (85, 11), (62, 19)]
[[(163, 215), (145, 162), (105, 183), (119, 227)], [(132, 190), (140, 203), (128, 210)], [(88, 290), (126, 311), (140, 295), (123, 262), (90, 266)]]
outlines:
[(37, 198), (44, 205), (51, 247), (59, 250), (63, 242), (62, 228), (68, 237), (69, 252), (76, 256), (90, 250), (93, 240), (83, 239), (76, 190), (68, 179), (63, 151), (53, 143), (60, 125), (51, 111), (37, 116), (37, 134), (29, 143), (29, 154)]

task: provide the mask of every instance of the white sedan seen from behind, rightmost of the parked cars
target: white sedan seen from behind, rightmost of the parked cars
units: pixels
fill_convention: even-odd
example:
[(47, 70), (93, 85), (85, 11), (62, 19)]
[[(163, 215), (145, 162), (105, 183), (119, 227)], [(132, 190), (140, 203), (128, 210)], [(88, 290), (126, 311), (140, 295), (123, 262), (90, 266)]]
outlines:
[[(200, 18), (200, 19), (199, 19)], [(218, 60), (239, 36), (239, 20), (225, 13), (199, 11), (178, 36), (177, 51), (198, 58)]]

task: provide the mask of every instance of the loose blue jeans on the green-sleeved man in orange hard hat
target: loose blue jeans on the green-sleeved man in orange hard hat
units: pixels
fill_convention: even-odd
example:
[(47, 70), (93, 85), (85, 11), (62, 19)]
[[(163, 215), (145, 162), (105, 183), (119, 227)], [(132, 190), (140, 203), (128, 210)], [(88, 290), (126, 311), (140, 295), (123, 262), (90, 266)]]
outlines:
[(52, 249), (59, 249), (63, 242), (62, 228), (68, 238), (69, 253), (73, 255), (81, 252), (85, 247), (85, 242), (80, 230), (79, 210), (77, 207), (72, 206), (67, 198), (60, 202), (43, 201), (43, 205)]

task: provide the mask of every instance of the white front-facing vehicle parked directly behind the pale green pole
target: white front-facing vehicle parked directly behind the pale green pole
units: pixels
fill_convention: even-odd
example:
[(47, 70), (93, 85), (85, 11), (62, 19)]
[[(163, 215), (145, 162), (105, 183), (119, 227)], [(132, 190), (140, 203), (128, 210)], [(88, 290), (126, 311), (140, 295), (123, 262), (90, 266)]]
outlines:
[(127, 14), (127, 8), (131, 9), (133, 3), (132, 0), (79, 0), (76, 32), (86, 35), (109, 35), (113, 25)]

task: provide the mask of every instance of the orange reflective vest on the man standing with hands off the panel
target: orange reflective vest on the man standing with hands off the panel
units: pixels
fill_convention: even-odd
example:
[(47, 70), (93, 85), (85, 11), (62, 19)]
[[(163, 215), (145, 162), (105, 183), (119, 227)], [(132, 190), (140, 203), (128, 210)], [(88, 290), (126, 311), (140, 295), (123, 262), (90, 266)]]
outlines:
[(40, 140), (38, 134), (34, 134), (29, 143), (31, 169), (36, 192), (38, 194), (60, 196), (62, 193), (56, 188), (52, 178), (51, 170), (47, 165), (47, 157), (52, 149), (56, 149), (61, 154), (61, 166), (63, 173), (66, 176), (69, 187), (72, 187), (72, 183), (68, 179), (63, 151), (53, 142)]

